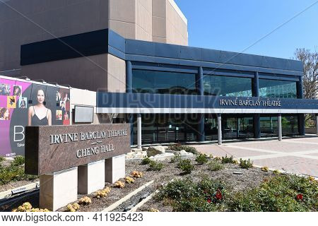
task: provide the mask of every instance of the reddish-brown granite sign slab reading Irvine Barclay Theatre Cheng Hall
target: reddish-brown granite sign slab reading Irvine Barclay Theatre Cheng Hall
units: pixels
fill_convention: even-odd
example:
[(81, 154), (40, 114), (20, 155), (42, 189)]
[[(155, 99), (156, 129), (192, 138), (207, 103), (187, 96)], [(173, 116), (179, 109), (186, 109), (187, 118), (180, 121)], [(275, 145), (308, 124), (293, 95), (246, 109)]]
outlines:
[(51, 174), (130, 152), (129, 124), (27, 126), (25, 173)]

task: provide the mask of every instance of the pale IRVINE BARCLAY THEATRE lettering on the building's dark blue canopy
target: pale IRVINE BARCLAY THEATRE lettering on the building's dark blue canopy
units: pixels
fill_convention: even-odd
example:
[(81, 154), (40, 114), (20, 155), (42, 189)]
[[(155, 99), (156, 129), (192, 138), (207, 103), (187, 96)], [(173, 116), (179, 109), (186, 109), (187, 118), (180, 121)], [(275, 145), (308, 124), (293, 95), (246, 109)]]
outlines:
[(220, 106), (281, 107), (281, 100), (220, 100)]

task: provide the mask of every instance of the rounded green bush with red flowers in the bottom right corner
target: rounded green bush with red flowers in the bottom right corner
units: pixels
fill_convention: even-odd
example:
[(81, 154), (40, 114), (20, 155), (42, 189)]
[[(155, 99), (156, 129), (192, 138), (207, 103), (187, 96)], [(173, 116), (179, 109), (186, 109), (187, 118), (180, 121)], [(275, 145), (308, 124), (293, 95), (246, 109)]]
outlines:
[(237, 192), (227, 201), (228, 211), (317, 211), (317, 183), (305, 177), (279, 175), (257, 189)]

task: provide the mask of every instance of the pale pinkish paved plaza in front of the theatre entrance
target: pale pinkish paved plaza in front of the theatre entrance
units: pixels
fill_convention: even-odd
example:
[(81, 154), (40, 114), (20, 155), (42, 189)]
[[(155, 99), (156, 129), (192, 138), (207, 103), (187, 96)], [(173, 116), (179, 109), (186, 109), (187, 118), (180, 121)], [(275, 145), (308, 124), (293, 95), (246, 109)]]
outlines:
[(318, 137), (285, 138), (283, 141), (248, 141), (223, 145), (194, 145), (201, 153), (213, 156), (233, 155), (250, 159), (254, 165), (283, 169), (318, 177)]

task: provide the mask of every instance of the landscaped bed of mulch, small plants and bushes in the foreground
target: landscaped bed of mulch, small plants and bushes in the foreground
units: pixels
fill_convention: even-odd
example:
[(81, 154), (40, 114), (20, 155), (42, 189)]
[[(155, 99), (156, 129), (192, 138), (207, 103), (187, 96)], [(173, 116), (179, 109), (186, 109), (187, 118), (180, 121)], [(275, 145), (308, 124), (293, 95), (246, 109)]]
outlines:
[[(137, 177), (141, 176), (139, 172), (142, 177)], [(160, 162), (150, 158), (126, 160), (126, 176), (129, 178), (120, 179), (118, 187), (105, 184), (100, 197), (96, 197), (97, 193), (78, 195), (75, 205), (58, 211), (101, 211), (151, 181), (150, 186), (113, 211), (129, 210), (155, 191), (158, 194), (139, 211), (317, 211), (318, 206), (318, 184), (314, 179), (281, 175), (267, 167), (254, 168), (252, 162), (237, 162), (232, 157), (220, 159), (201, 154)], [(17, 208), (26, 199), (7, 210)], [(27, 201), (38, 208), (38, 194), (29, 196)]]

